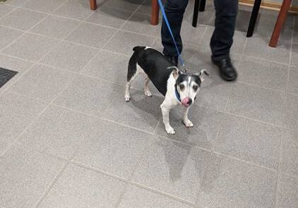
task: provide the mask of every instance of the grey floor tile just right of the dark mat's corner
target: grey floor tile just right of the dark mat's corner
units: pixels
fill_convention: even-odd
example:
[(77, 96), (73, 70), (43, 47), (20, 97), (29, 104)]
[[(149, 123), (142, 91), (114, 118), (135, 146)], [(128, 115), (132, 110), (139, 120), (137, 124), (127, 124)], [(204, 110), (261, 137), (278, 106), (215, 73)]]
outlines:
[(74, 77), (75, 75), (67, 71), (37, 65), (20, 78), (11, 87), (11, 91), (44, 102), (51, 102)]

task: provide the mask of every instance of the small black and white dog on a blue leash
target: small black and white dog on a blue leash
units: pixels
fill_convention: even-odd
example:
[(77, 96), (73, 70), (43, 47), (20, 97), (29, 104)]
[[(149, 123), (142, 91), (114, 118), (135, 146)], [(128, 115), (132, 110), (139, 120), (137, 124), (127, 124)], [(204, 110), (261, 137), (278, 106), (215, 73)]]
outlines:
[(129, 70), (127, 72), (127, 84), (125, 100), (129, 102), (131, 98), (131, 82), (138, 73), (145, 73), (145, 95), (152, 97), (148, 88), (151, 80), (157, 90), (165, 96), (164, 102), (160, 105), (162, 109), (163, 122), (165, 130), (169, 134), (174, 134), (174, 129), (169, 125), (169, 110), (181, 104), (183, 122), (186, 127), (192, 127), (193, 123), (189, 121), (189, 107), (196, 99), (196, 94), (204, 80), (204, 74), (208, 75), (205, 69), (196, 74), (182, 73), (159, 51), (150, 47), (134, 47), (133, 55), (129, 59)]

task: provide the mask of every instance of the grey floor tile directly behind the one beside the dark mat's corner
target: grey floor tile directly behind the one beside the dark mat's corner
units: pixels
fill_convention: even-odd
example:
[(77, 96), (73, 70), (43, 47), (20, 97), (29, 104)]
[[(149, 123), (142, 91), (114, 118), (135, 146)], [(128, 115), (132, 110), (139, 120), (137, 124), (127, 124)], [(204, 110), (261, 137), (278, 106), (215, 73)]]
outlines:
[(97, 49), (61, 42), (40, 63), (79, 72), (97, 54)]

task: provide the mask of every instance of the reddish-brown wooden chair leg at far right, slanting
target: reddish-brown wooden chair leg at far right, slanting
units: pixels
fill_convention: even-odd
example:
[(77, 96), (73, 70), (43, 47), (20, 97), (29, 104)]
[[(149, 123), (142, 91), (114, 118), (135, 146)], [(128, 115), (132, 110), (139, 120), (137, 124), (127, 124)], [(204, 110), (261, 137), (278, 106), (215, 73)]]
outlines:
[(278, 38), (280, 37), (282, 26), (287, 19), (287, 13), (289, 11), (290, 5), (291, 0), (284, 0), (282, 2), (282, 7), (280, 8), (280, 13), (278, 13), (278, 19), (276, 20), (275, 27), (269, 42), (270, 47), (276, 47), (276, 45), (278, 44)]

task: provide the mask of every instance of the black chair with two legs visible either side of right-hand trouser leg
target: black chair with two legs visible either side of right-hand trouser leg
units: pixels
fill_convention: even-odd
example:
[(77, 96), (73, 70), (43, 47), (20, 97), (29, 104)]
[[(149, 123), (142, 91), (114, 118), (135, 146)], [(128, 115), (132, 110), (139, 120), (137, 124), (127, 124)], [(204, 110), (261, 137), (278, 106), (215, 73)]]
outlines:
[[(193, 27), (196, 27), (198, 23), (198, 12), (205, 10), (206, 0), (196, 0), (193, 8)], [(261, 0), (254, 1), (254, 8), (251, 12), (251, 19), (249, 20), (249, 28), (246, 33), (246, 37), (251, 37), (254, 34), (254, 26), (256, 25), (256, 19), (258, 18), (258, 11), (260, 10)]]

